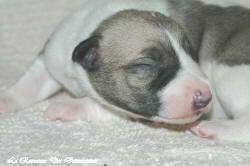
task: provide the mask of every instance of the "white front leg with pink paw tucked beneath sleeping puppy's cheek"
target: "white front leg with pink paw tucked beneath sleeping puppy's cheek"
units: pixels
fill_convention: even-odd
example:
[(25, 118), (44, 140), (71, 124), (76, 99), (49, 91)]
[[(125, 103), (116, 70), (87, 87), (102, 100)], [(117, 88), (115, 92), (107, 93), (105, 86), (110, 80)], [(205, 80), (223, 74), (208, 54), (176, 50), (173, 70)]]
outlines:
[(96, 122), (119, 119), (111, 111), (94, 99), (84, 97), (67, 100), (67, 102), (52, 103), (45, 111), (45, 118), (52, 121), (85, 120)]

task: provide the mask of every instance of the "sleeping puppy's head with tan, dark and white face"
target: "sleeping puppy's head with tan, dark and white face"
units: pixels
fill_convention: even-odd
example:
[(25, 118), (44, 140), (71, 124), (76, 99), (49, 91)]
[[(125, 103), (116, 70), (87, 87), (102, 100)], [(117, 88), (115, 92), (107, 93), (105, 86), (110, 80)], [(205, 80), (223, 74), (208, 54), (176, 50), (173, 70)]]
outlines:
[(183, 29), (170, 18), (121, 11), (73, 52), (99, 100), (154, 121), (188, 123), (208, 111), (209, 86)]

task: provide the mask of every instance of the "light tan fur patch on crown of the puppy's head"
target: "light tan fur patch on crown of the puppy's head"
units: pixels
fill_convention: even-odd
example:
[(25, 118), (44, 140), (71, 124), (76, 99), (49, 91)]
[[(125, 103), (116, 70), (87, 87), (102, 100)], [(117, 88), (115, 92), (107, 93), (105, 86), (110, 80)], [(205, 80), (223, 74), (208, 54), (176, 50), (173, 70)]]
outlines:
[(124, 65), (140, 58), (144, 48), (159, 43), (170, 45), (163, 28), (177, 38), (183, 35), (178, 24), (158, 12), (124, 10), (104, 20), (93, 34), (103, 36), (100, 42), (102, 60)]

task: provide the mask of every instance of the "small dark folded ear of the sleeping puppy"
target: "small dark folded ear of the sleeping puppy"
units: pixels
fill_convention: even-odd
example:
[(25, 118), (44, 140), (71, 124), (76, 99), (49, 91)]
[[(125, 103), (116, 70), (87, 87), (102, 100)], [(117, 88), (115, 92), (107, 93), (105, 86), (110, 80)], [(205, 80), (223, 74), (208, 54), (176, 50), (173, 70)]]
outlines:
[(74, 49), (72, 60), (82, 65), (83, 68), (93, 71), (98, 68), (98, 48), (101, 36), (92, 36), (81, 43)]

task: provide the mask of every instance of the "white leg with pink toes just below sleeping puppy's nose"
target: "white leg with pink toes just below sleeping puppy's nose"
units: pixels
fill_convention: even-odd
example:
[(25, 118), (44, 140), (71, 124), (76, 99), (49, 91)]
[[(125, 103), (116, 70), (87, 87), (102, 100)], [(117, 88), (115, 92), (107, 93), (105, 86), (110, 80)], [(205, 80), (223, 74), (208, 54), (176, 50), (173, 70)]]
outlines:
[[(249, 116), (248, 116), (249, 117)], [(250, 124), (248, 118), (234, 120), (202, 121), (191, 131), (205, 138), (249, 142)]]

